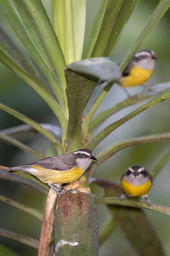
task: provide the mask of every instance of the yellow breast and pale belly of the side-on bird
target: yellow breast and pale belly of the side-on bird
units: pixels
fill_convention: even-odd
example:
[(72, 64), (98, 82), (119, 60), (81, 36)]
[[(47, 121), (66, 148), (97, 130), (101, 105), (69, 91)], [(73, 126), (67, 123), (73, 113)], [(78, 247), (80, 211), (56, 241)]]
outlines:
[(38, 177), (38, 179), (48, 184), (73, 182), (83, 174), (83, 170), (80, 167), (75, 167), (68, 171), (45, 169), (34, 165), (29, 167), (30, 169), (33, 168), (33, 175), (35, 175), (36, 177)]

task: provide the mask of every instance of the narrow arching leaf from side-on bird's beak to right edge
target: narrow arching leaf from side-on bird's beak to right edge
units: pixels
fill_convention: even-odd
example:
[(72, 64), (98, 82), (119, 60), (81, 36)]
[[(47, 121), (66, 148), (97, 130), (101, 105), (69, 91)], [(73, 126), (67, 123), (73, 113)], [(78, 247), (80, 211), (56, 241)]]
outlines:
[(120, 150), (127, 148), (127, 147), (132, 147), (134, 145), (140, 145), (140, 144), (145, 144), (145, 143), (154, 143), (154, 142), (159, 142), (159, 141), (168, 141), (170, 140), (170, 132), (167, 133), (160, 133), (160, 134), (152, 134), (152, 135), (147, 135), (147, 136), (141, 136), (137, 138), (131, 138), (128, 140), (123, 140), (120, 142), (117, 142), (115, 144), (110, 145), (110, 147), (106, 148), (99, 154), (97, 154), (96, 158), (98, 160), (97, 163), (92, 163), (88, 171), (86, 172), (86, 177), (87, 180), (90, 179), (92, 172), (96, 169), (97, 165), (103, 163), (106, 161), (108, 158), (111, 156), (114, 156), (119, 152)]

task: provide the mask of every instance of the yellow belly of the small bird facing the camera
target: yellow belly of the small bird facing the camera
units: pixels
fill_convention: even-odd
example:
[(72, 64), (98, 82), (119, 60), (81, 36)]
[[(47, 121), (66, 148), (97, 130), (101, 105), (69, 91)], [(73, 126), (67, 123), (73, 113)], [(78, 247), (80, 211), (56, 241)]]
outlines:
[(150, 180), (147, 180), (145, 183), (141, 185), (132, 185), (128, 183), (125, 179), (123, 179), (121, 183), (125, 193), (131, 196), (146, 195), (148, 191), (150, 191), (150, 188), (152, 187), (152, 182)]

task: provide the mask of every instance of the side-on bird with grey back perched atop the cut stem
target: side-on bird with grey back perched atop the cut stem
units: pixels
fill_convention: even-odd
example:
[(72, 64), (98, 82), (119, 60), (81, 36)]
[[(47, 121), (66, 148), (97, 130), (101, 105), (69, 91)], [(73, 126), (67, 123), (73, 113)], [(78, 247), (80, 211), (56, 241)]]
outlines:
[(58, 195), (62, 195), (69, 189), (59, 189), (54, 184), (77, 180), (89, 168), (93, 160), (97, 161), (93, 152), (83, 148), (62, 156), (46, 157), (31, 164), (12, 167), (8, 171), (20, 170), (30, 173), (47, 183)]

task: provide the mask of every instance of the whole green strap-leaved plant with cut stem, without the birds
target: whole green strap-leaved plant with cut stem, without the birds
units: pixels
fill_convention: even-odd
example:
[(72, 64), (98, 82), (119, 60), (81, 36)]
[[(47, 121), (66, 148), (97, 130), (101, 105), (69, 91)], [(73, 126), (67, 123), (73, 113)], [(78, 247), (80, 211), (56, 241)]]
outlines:
[[(139, 33), (138, 39), (129, 49), (129, 52), (127, 52), (119, 66), (120, 69), (117, 63), (108, 60), (108, 58), (93, 59), (94, 57), (109, 56), (111, 51), (114, 50), (135, 3), (135, 0), (103, 1), (92, 26), (89, 42), (84, 45), (85, 0), (52, 0), (53, 25), (50, 23), (41, 0), (0, 0), (0, 61), (29, 84), (46, 102), (56, 116), (55, 121), (59, 122), (62, 136), (58, 136), (58, 127), (56, 125), (52, 126), (49, 124), (46, 127), (45, 125), (38, 124), (38, 122), (9, 108), (3, 103), (0, 103), (0, 109), (30, 125), (31, 128), (29, 127), (29, 129), (34, 129), (34, 132), (43, 134), (55, 146), (57, 153), (63, 154), (64, 152), (71, 152), (82, 147), (96, 148), (106, 136), (115, 131), (115, 129), (118, 129), (120, 125), (125, 124), (134, 116), (155, 106), (155, 104), (168, 100), (170, 98), (169, 83), (162, 83), (161, 86), (160, 84), (155, 84), (148, 86), (142, 93), (118, 102), (118, 104), (113, 104), (111, 108), (104, 110), (94, 118), (104, 97), (110, 91), (113, 83), (119, 79), (120, 70), (124, 69), (134, 52), (138, 50), (139, 45), (141, 45), (148, 33), (152, 31), (170, 6), (169, 0), (160, 1), (150, 15), (145, 27)], [(82, 56), (83, 58), (93, 58), (82, 61)], [(104, 66), (99, 64), (101, 60), (104, 61)], [(74, 61), (76, 62), (70, 64)], [(90, 63), (90, 65), (87, 65), (87, 63)], [(111, 63), (110, 66), (108, 63)], [(99, 92), (89, 108), (89, 99), (94, 92), (97, 81), (105, 84), (105, 86), (103, 85), (101, 92)], [(119, 118), (116, 122), (104, 127), (104, 129), (101, 126), (110, 116), (118, 111), (148, 99), (152, 100)], [(86, 115), (84, 114), (85, 108), (88, 108)], [(94, 136), (94, 132), (98, 128), (101, 131)], [(22, 132), (25, 132), (25, 127), (22, 127), (22, 131), (15, 128), (11, 134), (2, 131), (0, 132), (0, 139), (15, 145), (36, 158), (45, 157), (40, 152), (21, 142), (22, 136), (20, 135)], [(29, 133), (25, 133), (24, 140), (26, 138), (28, 141), (30, 140)], [(120, 150), (143, 143), (168, 140), (170, 140), (169, 132), (164, 132), (122, 140), (110, 145), (110, 147), (99, 152), (97, 155), (99, 162), (93, 163), (86, 176), (83, 177), (83, 189), (89, 191), (89, 188), (86, 187), (89, 186), (90, 180), (92, 180), (90, 177), (94, 169)], [(169, 152), (153, 169), (154, 175), (160, 172), (168, 159)], [(5, 170), (3, 166), (0, 166), (0, 168)], [(24, 173), (16, 175), (0, 171), (0, 178), (27, 184), (44, 194), (47, 193), (46, 185)], [(101, 184), (107, 190), (108, 184), (104, 180), (101, 181)], [(120, 186), (116, 184), (111, 187), (114, 193), (117, 190), (115, 188), (118, 189), (118, 193), (121, 192)], [(115, 221), (111, 223), (111, 227), (107, 232), (103, 230), (100, 239), (101, 243), (106, 240), (106, 237), (118, 225), (139, 255), (150, 255), (151, 250), (154, 252), (154, 255), (164, 255), (163, 246), (160, 244), (154, 228), (150, 225), (150, 221), (147, 220), (145, 213), (141, 209), (150, 209), (168, 215), (170, 209), (160, 205), (148, 206), (134, 200), (120, 201), (118, 198), (112, 197), (114, 193), (113, 195), (106, 193), (106, 197), (97, 199), (98, 204), (108, 205), (111, 221), (112, 219)], [(42, 219), (41, 212), (38, 212), (36, 209), (26, 207), (4, 196), (0, 196), (0, 200), (33, 215), (39, 220)], [(46, 218), (51, 221), (48, 223), (51, 226), (46, 228), (46, 237), (41, 234), (41, 243), (39, 244), (43, 244), (43, 239), (50, 241), (51, 238), (53, 216), (52, 214), (48, 216), (48, 207), (50, 207), (49, 212), (53, 212), (54, 202), (52, 205), (46, 204), (43, 228), (47, 227), (45, 226), (47, 225)], [(108, 229), (107, 227), (108, 223), (106, 229)], [(129, 228), (131, 229), (130, 234)], [(137, 234), (138, 230), (141, 232), (139, 237), (140, 243), (135, 241), (136, 236), (139, 236)], [(73, 237), (75, 232), (81, 234), (81, 236)], [(145, 232), (146, 236), (143, 235)], [(38, 248), (39, 245), (35, 239), (3, 229), (0, 230), (0, 236), (20, 241), (20, 243), (27, 244), (33, 248)], [(81, 239), (82, 236), (83, 239)], [(69, 243), (66, 243), (67, 245), (63, 247), (61, 241), (64, 240), (69, 241)], [(94, 195), (87, 193), (65, 194), (57, 200), (54, 221), (54, 243), (57, 255), (98, 255), (99, 237)], [(53, 249), (50, 249), (50, 244), (47, 243), (47, 246), (43, 248), (45, 255), (47, 255), (49, 250)]]

